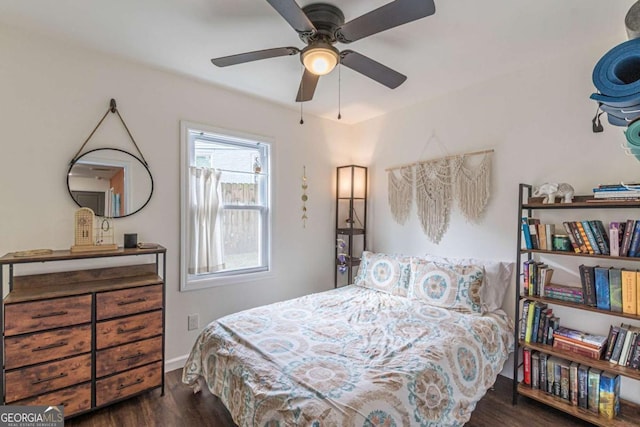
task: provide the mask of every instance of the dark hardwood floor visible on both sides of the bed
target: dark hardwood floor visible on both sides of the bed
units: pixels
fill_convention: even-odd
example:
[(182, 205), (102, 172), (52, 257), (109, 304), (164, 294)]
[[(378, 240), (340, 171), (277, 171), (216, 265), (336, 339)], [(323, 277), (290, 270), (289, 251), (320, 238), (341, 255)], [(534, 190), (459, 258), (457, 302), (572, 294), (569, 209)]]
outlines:
[[(193, 394), (180, 381), (181, 370), (166, 374), (165, 395), (145, 393), (130, 400), (81, 415), (65, 422), (65, 427), (234, 427), (231, 416), (217, 397), (206, 388)], [(590, 426), (562, 412), (520, 397), (511, 404), (511, 380), (498, 377), (495, 388), (478, 403), (468, 427), (554, 427)]]

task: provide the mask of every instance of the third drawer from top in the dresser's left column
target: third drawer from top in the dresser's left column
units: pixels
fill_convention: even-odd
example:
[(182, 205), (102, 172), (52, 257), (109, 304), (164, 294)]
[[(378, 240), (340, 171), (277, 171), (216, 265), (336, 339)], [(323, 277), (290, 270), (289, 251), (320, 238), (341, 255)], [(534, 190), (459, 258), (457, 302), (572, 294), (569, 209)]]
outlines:
[(5, 400), (10, 403), (86, 381), (91, 381), (90, 354), (9, 371), (5, 374)]

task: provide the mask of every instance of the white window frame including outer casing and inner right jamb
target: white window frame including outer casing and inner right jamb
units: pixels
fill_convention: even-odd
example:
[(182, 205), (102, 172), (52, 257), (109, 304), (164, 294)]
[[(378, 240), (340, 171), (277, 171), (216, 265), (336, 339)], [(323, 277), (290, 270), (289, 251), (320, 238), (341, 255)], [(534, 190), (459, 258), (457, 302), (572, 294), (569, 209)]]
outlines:
[[(256, 208), (262, 216), (262, 224), (266, 226), (261, 239), (261, 255), (263, 265), (255, 268), (228, 270), (216, 273), (193, 275), (189, 274), (187, 264), (187, 214), (189, 203), (189, 167), (194, 164), (191, 140), (193, 132), (204, 132), (218, 139), (220, 142), (255, 145), (265, 144), (267, 148), (267, 162), (262, 165), (263, 173), (267, 175), (265, 205), (266, 208)], [(240, 133), (188, 121), (180, 122), (180, 291), (206, 289), (215, 286), (232, 285), (236, 283), (263, 280), (272, 277), (271, 266), (271, 230), (272, 230), (272, 195), (271, 170), (273, 165), (272, 139), (248, 133)], [(246, 206), (226, 206), (225, 209), (247, 209)], [(251, 209), (251, 208), (250, 208)]]

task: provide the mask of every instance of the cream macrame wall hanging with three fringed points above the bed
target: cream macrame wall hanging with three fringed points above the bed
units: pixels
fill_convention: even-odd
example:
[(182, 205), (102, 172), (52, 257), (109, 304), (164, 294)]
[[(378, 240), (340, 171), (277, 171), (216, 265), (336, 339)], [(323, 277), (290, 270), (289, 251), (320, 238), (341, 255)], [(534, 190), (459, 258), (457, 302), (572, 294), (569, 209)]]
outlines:
[[(491, 153), (475, 151), (388, 168), (391, 216), (400, 225), (406, 223), (415, 188), (420, 225), (433, 243), (439, 243), (447, 231), (454, 198), (464, 217), (477, 221), (491, 192)], [(468, 166), (466, 161), (476, 155), (484, 157), (477, 166)]]

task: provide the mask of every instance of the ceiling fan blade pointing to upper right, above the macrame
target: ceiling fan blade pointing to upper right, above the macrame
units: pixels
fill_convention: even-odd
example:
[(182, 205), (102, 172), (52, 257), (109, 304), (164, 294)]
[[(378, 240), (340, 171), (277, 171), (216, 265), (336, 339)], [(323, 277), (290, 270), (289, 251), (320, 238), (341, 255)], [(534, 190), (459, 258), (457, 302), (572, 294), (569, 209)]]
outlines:
[(435, 12), (433, 0), (395, 0), (347, 22), (336, 30), (336, 37), (351, 43)]

